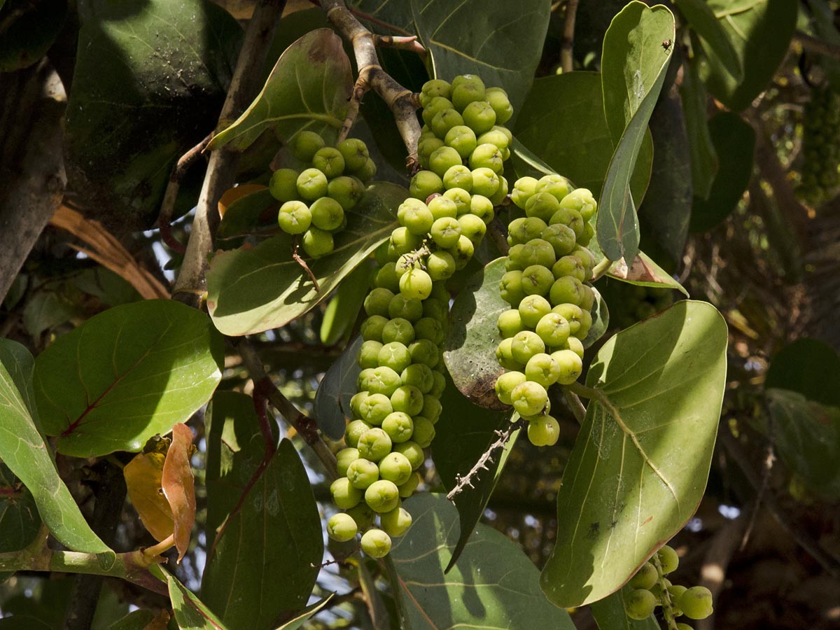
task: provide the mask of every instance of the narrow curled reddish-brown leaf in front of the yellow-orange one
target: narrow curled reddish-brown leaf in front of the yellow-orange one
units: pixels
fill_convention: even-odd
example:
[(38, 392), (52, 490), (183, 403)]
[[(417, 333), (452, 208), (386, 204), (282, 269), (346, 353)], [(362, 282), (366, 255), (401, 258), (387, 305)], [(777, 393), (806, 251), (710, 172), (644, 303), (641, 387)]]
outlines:
[(176, 424), (172, 427), (172, 444), (166, 451), (160, 487), (172, 510), (178, 562), (181, 562), (190, 546), (190, 534), (196, 522), (196, 488), (192, 478), (191, 456), (192, 430), (186, 424)]

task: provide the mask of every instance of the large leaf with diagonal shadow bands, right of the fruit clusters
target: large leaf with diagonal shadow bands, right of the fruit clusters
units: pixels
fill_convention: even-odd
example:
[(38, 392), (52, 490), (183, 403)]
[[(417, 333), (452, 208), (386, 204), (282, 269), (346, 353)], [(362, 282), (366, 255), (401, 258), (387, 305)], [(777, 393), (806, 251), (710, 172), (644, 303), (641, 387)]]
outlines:
[(541, 584), (557, 606), (617, 591), (695, 512), (726, 382), (727, 325), (676, 302), (617, 333), (586, 378), (595, 389), (557, 497), (557, 546)]

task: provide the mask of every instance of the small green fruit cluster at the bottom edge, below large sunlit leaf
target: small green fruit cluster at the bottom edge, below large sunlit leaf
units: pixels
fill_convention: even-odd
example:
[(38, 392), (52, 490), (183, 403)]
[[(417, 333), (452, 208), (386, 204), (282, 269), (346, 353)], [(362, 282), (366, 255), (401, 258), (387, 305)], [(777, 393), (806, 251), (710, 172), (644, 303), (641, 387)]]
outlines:
[[(662, 574), (673, 573), (680, 564), (680, 557), (674, 548), (665, 545), (656, 552)], [(661, 606), (663, 589), (668, 591), (671, 601), (671, 614), (674, 617), (688, 617), (689, 619), (705, 619), (713, 612), (711, 606), (711, 591), (705, 586), (686, 588), (679, 584), (672, 584), (667, 578), (659, 578), (659, 572), (652, 562), (642, 565), (636, 575), (627, 583), (632, 591), (624, 599), (624, 612), (631, 619), (647, 619), (654, 613), (656, 606)], [(685, 623), (678, 623), (680, 630), (690, 630)]]

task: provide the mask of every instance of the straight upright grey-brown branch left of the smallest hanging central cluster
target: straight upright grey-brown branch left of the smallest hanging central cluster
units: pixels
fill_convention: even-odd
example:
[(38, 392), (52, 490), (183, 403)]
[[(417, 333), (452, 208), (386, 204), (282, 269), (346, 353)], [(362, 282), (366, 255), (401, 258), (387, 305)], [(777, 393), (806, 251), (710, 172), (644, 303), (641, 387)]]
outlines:
[[(228, 124), (241, 113), (257, 90), (260, 69), (286, 0), (260, 0), (245, 31), (245, 39), (228, 96), (219, 114), (219, 126)], [(218, 200), (234, 185), (239, 154), (228, 150), (213, 151), (207, 164), (201, 195), (198, 197), (190, 240), (186, 244), (184, 262), (175, 283), (173, 297), (197, 307), (206, 290), (204, 278), (207, 255), (213, 251), (213, 237), (218, 227)]]

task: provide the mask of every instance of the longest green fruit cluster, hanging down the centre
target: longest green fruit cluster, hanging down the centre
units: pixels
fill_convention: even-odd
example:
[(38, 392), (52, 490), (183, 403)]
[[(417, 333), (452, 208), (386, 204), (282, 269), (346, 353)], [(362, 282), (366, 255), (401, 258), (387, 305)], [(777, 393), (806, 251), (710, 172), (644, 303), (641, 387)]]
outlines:
[[(428, 112), (433, 102), (440, 103), (435, 99), (444, 99), (452, 109), (449, 97), (459, 95), (459, 112), (467, 112), (470, 103), (484, 103), (489, 111), (469, 111), (480, 110), (483, 118), (475, 116), (490, 122), (485, 131), (496, 129), (482, 145), (501, 155), (511, 136), (496, 125), (496, 110), (483, 100), (488, 92), (501, 118), (510, 118), (504, 92), (486, 90), (475, 76), (456, 77), (452, 84), (428, 81), (421, 95), (427, 106), (423, 117), (438, 120)], [(436, 129), (442, 124), (438, 120)], [(424, 134), (428, 141), (428, 128)], [(424, 169), (412, 179), (411, 197), (397, 209), (400, 225), (381, 249), (381, 267), (365, 297), (358, 393), (350, 401), (346, 448), (336, 455), (340, 476), (330, 486), (334, 503), (344, 512), (329, 519), (328, 535), (343, 542), (364, 532), (361, 547), (374, 558), (388, 554), (391, 537), (411, 526), (402, 499), (417, 488), (423, 449), (432, 443), (441, 416), (439, 399), (446, 385), (442, 346), (449, 326), (444, 283), (470, 261), (494, 216), (493, 200), (500, 202), (507, 194), (507, 182), (498, 174), (501, 161), (496, 170), (476, 166), (470, 171), (458, 157), (457, 165), (442, 170), (439, 158), (435, 154), (436, 170)]]

